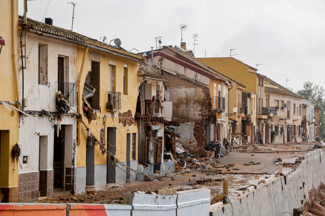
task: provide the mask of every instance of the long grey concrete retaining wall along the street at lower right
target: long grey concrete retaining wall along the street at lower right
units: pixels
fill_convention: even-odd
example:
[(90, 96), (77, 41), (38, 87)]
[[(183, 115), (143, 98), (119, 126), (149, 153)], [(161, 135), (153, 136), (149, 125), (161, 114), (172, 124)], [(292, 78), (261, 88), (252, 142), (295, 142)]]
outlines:
[[(325, 151), (319, 149), (304, 155), (305, 159), (293, 172), (290, 169), (284, 176), (270, 180), (266, 185), (249, 191), (233, 201), (210, 213), (211, 216), (279, 216), (284, 212), (302, 206), (309, 198), (309, 191), (318, 187), (325, 178)], [(295, 158), (290, 159), (294, 163)], [(287, 160), (286, 162), (289, 162)], [(304, 197), (305, 196), (305, 197)]]

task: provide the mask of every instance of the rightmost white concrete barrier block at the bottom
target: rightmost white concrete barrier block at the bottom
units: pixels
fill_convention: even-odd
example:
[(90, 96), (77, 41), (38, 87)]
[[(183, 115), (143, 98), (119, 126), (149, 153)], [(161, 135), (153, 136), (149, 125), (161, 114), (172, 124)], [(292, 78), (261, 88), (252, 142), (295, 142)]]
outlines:
[(177, 192), (177, 216), (208, 216), (210, 189), (199, 188)]

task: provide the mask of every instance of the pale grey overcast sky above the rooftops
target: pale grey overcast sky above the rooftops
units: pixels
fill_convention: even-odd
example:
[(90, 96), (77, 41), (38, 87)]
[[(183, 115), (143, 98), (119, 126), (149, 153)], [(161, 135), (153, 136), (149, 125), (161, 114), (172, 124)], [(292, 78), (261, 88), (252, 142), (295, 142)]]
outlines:
[[(324, 85), (325, 0), (75, 0), (73, 30), (140, 52), (183, 41), (195, 56), (234, 57), (297, 91), (304, 81)], [(47, 8), (48, 5), (48, 8)], [(45, 10), (47, 11), (45, 13)], [(71, 29), (73, 5), (67, 0), (28, 1), (29, 18), (51, 17), (53, 25)], [(44, 15), (45, 13), (45, 15)], [(19, 0), (23, 14), (23, 0)], [(113, 42), (112, 42), (113, 44)], [(135, 50), (133, 50), (135, 52)], [(239, 80), (240, 81), (240, 80)]]

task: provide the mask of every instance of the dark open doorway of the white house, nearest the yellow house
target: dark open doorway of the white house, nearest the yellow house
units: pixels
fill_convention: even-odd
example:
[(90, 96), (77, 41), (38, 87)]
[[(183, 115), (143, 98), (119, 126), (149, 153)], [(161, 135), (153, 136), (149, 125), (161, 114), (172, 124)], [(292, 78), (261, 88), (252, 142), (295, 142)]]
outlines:
[(53, 148), (53, 187), (54, 189), (64, 189), (64, 141), (65, 125), (61, 125), (59, 136), (58, 128), (54, 127), (54, 148)]

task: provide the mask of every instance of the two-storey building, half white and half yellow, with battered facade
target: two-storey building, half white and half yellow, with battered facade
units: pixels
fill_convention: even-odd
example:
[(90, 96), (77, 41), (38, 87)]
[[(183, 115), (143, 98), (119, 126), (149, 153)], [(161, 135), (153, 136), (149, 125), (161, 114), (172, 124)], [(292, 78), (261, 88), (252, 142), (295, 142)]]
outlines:
[[(21, 142), (13, 163), (20, 166), (12, 180), (17, 187), (12, 202), (136, 179), (134, 114), (144, 58), (52, 22), (22, 16), (18, 22), (17, 14), (17, 100), (24, 115), (15, 138)], [(1, 132), (1, 166), (5, 138)]]

